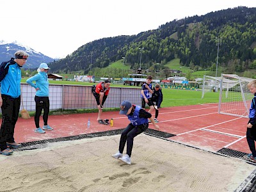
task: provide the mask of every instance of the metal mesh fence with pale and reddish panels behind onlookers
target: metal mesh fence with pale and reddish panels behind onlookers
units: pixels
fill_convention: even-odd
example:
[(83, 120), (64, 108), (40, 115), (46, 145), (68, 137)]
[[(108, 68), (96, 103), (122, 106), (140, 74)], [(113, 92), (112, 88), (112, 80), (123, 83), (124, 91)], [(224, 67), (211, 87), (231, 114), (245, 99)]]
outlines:
[[(21, 83), (21, 97), (24, 108), (35, 111), (35, 88), (27, 83)], [(104, 108), (119, 108), (123, 100), (141, 105), (141, 89), (111, 87)], [(92, 86), (50, 84), (50, 110), (56, 109), (93, 109), (97, 102), (92, 94)], [(22, 105), (20, 110), (22, 109)]]

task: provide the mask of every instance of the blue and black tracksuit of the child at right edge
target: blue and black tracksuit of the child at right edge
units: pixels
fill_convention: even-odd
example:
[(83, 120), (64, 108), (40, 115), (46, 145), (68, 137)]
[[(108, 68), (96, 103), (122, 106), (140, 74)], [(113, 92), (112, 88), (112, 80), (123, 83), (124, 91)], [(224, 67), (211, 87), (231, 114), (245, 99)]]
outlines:
[(256, 150), (255, 150), (255, 142), (256, 141), (256, 95), (254, 95), (250, 107), (250, 114), (249, 114), (249, 122), (248, 124), (252, 124), (252, 128), (247, 128), (246, 131), (246, 140), (248, 142), (249, 148), (252, 152), (252, 156), (256, 157)]

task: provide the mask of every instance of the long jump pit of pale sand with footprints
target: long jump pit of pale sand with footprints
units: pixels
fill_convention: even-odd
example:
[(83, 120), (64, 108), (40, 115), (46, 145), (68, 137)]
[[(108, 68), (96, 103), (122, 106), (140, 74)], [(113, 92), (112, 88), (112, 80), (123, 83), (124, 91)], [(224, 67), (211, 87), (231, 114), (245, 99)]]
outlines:
[(255, 170), (145, 134), (134, 138), (128, 165), (111, 157), (119, 139), (61, 141), (1, 156), (0, 191), (234, 191)]

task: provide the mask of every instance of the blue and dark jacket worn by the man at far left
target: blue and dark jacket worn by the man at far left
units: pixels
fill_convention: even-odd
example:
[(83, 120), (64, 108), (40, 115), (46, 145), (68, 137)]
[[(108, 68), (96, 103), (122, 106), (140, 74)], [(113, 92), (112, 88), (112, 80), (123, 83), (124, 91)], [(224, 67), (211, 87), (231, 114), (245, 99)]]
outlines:
[(12, 58), (10, 61), (4, 61), (0, 65), (0, 84), (1, 93), (10, 95), (13, 98), (20, 96), (20, 67)]

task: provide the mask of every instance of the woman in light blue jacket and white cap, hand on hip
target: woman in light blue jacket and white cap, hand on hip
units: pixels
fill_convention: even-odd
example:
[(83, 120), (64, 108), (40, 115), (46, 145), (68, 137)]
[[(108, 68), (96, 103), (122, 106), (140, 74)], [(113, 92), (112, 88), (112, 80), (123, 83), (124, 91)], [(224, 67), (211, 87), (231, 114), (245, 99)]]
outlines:
[[(35, 102), (36, 102), (36, 114), (35, 114), (35, 132), (45, 133), (44, 130), (53, 130), (52, 127), (48, 125), (48, 115), (50, 111), (50, 101), (49, 101), (49, 81), (47, 72), (50, 68), (46, 63), (41, 63), (38, 68), (38, 74), (30, 77), (26, 82), (36, 89)], [(36, 84), (33, 83), (35, 81)], [(39, 126), (40, 115), (42, 114), (42, 109), (44, 109), (44, 126), (43, 129)]]

